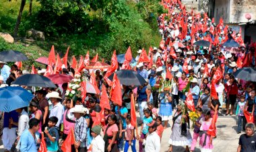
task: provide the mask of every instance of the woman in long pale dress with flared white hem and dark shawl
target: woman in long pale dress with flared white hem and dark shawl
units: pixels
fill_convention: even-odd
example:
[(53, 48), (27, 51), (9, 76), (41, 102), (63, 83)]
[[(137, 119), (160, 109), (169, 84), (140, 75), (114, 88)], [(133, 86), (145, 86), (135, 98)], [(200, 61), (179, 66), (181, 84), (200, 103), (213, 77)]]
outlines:
[[(189, 132), (189, 128), (187, 128), (187, 123), (189, 122), (189, 118), (187, 115), (183, 114), (183, 110), (185, 109), (185, 104), (180, 102), (177, 111), (174, 112), (174, 116), (172, 118), (172, 135), (170, 135), (170, 149), (168, 151), (172, 151), (172, 146), (186, 146), (186, 151), (189, 151), (189, 146), (192, 143), (192, 137)], [(182, 122), (182, 119), (185, 119), (185, 123)]]

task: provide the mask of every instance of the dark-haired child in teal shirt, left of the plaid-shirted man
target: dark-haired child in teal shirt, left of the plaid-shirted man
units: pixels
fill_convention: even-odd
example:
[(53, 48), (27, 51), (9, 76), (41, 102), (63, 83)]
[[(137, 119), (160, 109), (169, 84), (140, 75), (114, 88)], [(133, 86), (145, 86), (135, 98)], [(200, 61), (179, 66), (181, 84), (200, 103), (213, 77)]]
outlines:
[(59, 149), (59, 132), (57, 126), (55, 126), (58, 122), (58, 118), (56, 116), (52, 116), (49, 118), (48, 126), (49, 130), (45, 128), (44, 133), (47, 135), (46, 137), (46, 147), (47, 151), (58, 151)]

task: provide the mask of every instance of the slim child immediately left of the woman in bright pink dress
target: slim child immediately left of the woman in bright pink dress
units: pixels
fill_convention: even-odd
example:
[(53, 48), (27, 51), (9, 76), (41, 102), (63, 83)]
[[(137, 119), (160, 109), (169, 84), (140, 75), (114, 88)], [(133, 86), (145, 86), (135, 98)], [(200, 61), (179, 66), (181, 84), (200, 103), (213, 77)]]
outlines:
[(193, 140), (192, 140), (190, 151), (194, 151), (195, 150), (195, 144), (197, 143), (197, 139), (199, 137), (199, 131), (200, 131), (200, 125), (201, 125), (199, 123), (199, 121), (203, 117), (202, 116), (202, 109), (200, 107), (197, 107), (196, 112), (197, 112), (197, 114), (200, 114), (200, 117), (195, 122)]

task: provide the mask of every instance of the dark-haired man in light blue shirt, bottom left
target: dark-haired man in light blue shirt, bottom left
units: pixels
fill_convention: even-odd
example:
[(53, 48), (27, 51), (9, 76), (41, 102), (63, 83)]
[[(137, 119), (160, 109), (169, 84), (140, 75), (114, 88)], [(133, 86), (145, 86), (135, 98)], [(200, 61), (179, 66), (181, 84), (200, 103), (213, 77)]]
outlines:
[[(35, 132), (39, 129), (39, 122), (40, 120), (36, 118), (30, 119), (30, 121), (28, 122), (30, 128), (28, 130), (25, 130), (20, 137), (21, 152), (37, 152)], [(40, 143), (40, 139), (38, 139), (37, 143)]]

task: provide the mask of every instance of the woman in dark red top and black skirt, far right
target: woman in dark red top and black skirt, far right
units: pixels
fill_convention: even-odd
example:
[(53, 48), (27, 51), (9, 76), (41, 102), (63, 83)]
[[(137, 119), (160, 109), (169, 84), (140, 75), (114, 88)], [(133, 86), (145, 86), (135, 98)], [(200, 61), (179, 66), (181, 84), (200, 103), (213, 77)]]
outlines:
[(226, 116), (229, 114), (230, 104), (230, 115), (232, 116), (234, 110), (234, 103), (236, 102), (236, 95), (238, 94), (238, 86), (236, 80), (234, 79), (234, 75), (231, 75), (229, 81), (225, 84), (225, 91), (227, 95)]

